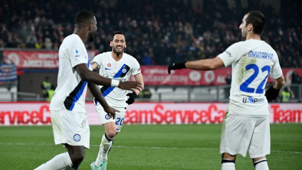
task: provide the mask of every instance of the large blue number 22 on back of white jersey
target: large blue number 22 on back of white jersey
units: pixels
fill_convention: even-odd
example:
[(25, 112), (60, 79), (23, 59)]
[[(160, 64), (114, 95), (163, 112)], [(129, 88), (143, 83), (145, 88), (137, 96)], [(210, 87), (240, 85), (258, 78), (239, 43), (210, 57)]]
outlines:
[[(247, 92), (247, 93), (254, 93), (255, 89), (254, 88), (249, 88), (248, 86), (257, 77), (257, 75), (259, 73), (259, 68), (256, 64), (249, 64), (249, 65), (246, 66), (246, 70), (249, 70), (249, 69), (253, 69), (254, 74), (240, 85), (240, 90), (243, 91), (243, 92)], [(264, 66), (264, 67), (261, 68), (261, 71), (262, 72), (267, 71), (267, 75), (265, 76), (265, 78), (262, 80), (262, 82), (257, 87), (256, 93), (259, 93), (259, 94), (263, 93), (263, 91), (264, 91), (264, 89), (262, 89), (262, 87), (263, 87), (263, 85), (264, 85), (264, 83), (265, 83), (265, 81), (268, 77), (268, 74), (271, 71), (271, 67)]]

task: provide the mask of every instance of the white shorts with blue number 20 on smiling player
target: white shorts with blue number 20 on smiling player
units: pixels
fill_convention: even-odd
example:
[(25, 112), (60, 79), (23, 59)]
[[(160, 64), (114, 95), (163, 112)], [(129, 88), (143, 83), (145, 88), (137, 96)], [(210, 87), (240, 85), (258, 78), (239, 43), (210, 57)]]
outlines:
[[(111, 106), (112, 107), (112, 106)], [(98, 104), (95, 106), (95, 110), (98, 113), (98, 118), (101, 120), (102, 124), (108, 122), (115, 122), (116, 132), (120, 132), (122, 125), (124, 123), (124, 117), (126, 114), (126, 107), (112, 107), (120, 112), (115, 112), (115, 119), (112, 119), (111, 116), (108, 116), (107, 112), (104, 111), (104, 108)]]

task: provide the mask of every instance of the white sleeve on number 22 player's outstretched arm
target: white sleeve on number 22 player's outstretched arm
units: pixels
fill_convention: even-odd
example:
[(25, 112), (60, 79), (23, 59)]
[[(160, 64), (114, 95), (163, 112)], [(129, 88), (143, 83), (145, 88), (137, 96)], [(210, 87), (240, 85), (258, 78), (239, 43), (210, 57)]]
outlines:
[(218, 57), (223, 61), (224, 67), (228, 67), (238, 60), (240, 54), (242, 54), (241, 51), (240, 43), (235, 43), (219, 54)]

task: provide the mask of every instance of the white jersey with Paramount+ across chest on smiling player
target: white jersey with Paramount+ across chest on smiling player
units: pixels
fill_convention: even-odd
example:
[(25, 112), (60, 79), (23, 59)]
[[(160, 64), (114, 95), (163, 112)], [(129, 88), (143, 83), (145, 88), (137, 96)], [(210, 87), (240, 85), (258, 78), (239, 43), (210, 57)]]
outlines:
[[(116, 62), (111, 56), (110, 52), (105, 52), (95, 56), (91, 62), (98, 63), (99, 74), (105, 78), (115, 79), (119, 81), (129, 81), (130, 76), (140, 74), (140, 64), (137, 60), (130, 56), (129, 54), (124, 53), (122, 59)], [(110, 106), (113, 107), (127, 107), (127, 90), (122, 90), (118, 87), (111, 86), (99, 86), (101, 93), (104, 96), (105, 100)], [(132, 92), (130, 92), (132, 93)], [(98, 105), (99, 102), (94, 100), (95, 105)]]

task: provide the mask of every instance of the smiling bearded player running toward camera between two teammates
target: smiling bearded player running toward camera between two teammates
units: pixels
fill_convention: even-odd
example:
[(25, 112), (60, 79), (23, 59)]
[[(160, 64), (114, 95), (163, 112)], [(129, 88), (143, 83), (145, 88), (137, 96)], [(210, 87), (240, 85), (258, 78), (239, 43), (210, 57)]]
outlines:
[[(101, 76), (104, 76), (109, 80), (112, 79), (121, 82), (130, 80), (130, 76), (133, 75), (137, 82), (143, 84), (140, 64), (134, 57), (124, 53), (126, 40), (122, 31), (116, 31), (113, 34), (110, 46), (112, 47), (112, 51), (98, 54), (92, 59), (90, 62), (92, 69), (99, 68)], [(95, 98), (95, 110), (105, 128), (105, 133), (102, 137), (98, 157), (96, 161), (92, 162), (90, 165), (93, 170), (106, 169), (108, 160), (107, 154), (111, 149), (114, 136), (120, 132), (123, 125), (127, 105), (132, 104), (135, 101), (137, 94), (141, 92), (139, 89), (134, 89), (134, 92), (128, 93), (127, 90), (112, 86), (99, 87), (108, 105), (120, 112), (116, 113), (115, 119), (108, 116), (104, 112), (103, 107), (99, 104), (98, 99)], [(129, 96), (128, 99), (127, 96)]]

